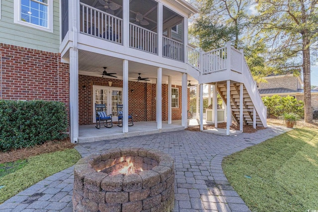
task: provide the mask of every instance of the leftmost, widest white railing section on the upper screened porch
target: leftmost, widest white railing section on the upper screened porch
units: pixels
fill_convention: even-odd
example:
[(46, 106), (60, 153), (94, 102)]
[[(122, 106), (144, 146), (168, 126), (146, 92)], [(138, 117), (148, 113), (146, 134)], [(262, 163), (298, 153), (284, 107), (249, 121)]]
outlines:
[(79, 2), (80, 33), (122, 44), (123, 19)]

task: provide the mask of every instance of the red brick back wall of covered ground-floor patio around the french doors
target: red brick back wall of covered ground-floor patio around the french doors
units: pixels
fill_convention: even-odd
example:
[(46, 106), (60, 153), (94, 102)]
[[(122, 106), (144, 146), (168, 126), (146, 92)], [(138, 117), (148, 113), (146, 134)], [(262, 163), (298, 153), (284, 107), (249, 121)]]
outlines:
[[(93, 116), (93, 85), (122, 88), (122, 80), (79, 75), (79, 125), (92, 124)], [(83, 86), (85, 85), (85, 89)], [(174, 87), (174, 86), (173, 86)], [(179, 108), (172, 108), (172, 120), (181, 119), (181, 86), (179, 88)], [(133, 90), (133, 92), (132, 92)], [(134, 121), (156, 120), (156, 84), (129, 81), (128, 111), (133, 114)], [(188, 95), (189, 98), (189, 95)], [(188, 100), (189, 101), (189, 100)], [(162, 120), (168, 120), (168, 85), (162, 84)]]

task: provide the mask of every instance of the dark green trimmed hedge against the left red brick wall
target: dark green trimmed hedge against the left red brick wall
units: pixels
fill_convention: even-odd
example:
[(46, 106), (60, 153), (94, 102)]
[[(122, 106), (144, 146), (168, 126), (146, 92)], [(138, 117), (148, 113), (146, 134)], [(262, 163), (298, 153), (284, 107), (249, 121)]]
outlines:
[(34, 146), (67, 137), (64, 103), (0, 100), (0, 150)]

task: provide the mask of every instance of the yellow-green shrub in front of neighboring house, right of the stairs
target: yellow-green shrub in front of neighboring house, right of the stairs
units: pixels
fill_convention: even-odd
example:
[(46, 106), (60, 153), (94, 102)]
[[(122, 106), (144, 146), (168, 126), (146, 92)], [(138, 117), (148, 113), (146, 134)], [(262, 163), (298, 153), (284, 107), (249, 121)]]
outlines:
[(268, 118), (279, 118), (284, 113), (294, 113), (300, 118), (304, 117), (304, 102), (292, 96), (265, 96), (262, 100), (267, 107)]

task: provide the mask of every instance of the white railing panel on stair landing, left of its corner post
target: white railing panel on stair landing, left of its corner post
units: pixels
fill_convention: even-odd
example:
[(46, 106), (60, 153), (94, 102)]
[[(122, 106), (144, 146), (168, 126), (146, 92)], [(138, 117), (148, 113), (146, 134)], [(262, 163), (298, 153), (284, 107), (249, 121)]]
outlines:
[(203, 73), (224, 71), (227, 69), (227, 48), (219, 48), (207, 53), (203, 53)]

